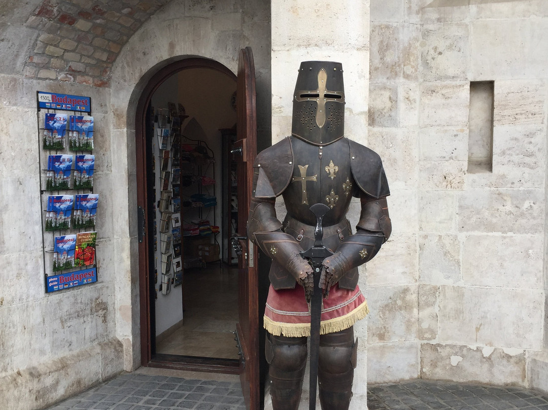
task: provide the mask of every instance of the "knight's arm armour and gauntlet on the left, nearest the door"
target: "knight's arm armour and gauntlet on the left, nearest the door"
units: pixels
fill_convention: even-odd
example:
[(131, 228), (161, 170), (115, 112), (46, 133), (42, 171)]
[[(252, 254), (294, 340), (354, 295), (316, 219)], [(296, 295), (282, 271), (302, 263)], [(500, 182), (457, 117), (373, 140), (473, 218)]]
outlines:
[(251, 201), (247, 224), (248, 237), (262, 252), (284, 267), (301, 284), (306, 293), (312, 291), (312, 266), (299, 254), (298, 241), (282, 231), (282, 223), (276, 218), (275, 199)]

